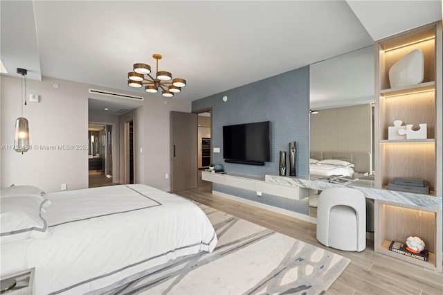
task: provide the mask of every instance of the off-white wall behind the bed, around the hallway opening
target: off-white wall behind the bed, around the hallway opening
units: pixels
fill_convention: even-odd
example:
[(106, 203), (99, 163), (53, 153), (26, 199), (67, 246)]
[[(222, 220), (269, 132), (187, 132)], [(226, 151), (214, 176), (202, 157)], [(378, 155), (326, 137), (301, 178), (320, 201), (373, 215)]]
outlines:
[[(60, 87), (54, 88), (55, 83)], [(88, 98), (124, 100), (91, 94), (89, 88), (134, 94), (55, 78), (28, 80), (27, 93), (38, 94), (40, 102), (28, 102), (24, 116), (30, 124), (30, 144), (39, 148), (19, 154), (8, 145), (14, 143), (19, 116), (20, 79), (1, 76), (1, 187), (32, 184), (48, 193), (60, 190), (60, 184), (65, 183), (69, 190), (88, 187), (88, 149), (61, 150), (58, 146), (88, 145)], [(165, 179), (170, 173), (170, 111), (189, 112), (191, 104), (161, 95), (136, 95), (145, 97), (140, 102), (143, 108), (135, 111), (136, 120), (142, 122), (136, 127), (141, 138), (136, 139), (137, 151), (143, 147), (143, 157), (136, 157), (136, 181), (170, 190), (170, 179)], [(43, 145), (55, 150), (42, 150)]]

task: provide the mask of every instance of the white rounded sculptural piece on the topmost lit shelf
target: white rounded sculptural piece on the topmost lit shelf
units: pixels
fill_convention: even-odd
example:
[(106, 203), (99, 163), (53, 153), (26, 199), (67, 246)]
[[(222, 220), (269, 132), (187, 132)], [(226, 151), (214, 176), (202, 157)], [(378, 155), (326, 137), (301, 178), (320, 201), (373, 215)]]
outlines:
[(415, 49), (401, 57), (389, 70), (390, 88), (419, 84), (424, 79), (424, 54)]

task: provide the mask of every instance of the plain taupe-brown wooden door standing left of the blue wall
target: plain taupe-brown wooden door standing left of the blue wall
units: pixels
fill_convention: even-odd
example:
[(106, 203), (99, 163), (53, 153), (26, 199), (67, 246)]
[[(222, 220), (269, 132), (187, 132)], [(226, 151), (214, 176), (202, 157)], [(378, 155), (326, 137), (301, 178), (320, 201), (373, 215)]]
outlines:
[(171, 191), (197, 188), (197, 114), (171, 111)]

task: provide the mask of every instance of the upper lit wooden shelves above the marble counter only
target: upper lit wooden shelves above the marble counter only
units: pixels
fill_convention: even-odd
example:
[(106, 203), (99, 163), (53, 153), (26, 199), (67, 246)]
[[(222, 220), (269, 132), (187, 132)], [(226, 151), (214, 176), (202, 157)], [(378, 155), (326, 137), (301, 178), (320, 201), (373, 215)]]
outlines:
[[(442, 192), (442, 29), (440, 22), (381, 39), (376, 48), (376, 185), (385, 188), (395, 177), (424, 179), (432, 194)], [(424, 80), (391, 88), (389, 70), (401, 57), (424, 53)], [(440, 78), (439, 78), (440, 77)], [(390, 140), (395, 120), (418, 127), (427, 124), (426, 139)], [(437, 167), (439, 166), (439, 167)]]

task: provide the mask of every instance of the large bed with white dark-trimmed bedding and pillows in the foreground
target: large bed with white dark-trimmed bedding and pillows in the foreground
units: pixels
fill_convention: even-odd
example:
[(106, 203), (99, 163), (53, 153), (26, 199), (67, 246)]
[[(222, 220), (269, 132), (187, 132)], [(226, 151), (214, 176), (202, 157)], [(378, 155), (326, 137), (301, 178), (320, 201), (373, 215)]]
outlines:
[(1, 275), (35, 267), (36, 294), (100, 294), (216, 244), (196, 204), (143, 184), (1, 193)]

